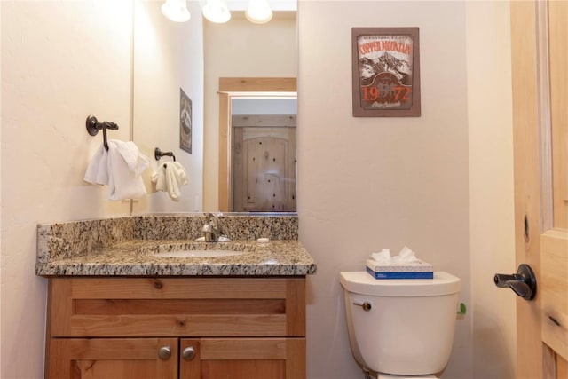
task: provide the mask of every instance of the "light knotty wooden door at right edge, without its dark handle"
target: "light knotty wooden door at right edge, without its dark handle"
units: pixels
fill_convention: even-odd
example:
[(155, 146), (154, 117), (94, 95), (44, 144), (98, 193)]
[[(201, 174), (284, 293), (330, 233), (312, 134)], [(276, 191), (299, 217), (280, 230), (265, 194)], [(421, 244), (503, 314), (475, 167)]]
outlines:
[(516, 260), (537, 295), (517, 298), (517, 377), (568, 377), (568, 3), (511, 2)]

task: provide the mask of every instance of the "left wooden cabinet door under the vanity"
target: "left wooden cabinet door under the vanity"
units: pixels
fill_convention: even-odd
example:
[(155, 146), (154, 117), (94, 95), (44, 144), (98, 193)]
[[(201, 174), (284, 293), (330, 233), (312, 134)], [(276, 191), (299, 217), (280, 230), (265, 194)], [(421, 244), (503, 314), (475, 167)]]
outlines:
[(52, 379), (177, 378), (177, 338), (53, 338), (49, 353)]

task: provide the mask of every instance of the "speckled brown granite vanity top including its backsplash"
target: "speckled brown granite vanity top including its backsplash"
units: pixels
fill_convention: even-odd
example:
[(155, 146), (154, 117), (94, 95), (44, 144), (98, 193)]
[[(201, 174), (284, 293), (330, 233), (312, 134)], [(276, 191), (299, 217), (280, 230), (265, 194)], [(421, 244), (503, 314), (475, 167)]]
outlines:
[[(285, 276), (316, 272), (297, 241), (296, 216), (223, 216), (232, 241), (200, 249), (243, 250), (229, 257), (158, 257), (160, 249), (194, 244), (205, 217), (150, 215), (38, 225), (41, 276)], [(269, 242), (257, 242), (268, 238)]]

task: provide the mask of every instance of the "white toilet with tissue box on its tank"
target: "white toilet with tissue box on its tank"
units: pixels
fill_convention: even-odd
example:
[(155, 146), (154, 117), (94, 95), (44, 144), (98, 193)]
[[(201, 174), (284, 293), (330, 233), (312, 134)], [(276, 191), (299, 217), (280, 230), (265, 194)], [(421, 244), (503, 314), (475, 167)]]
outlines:
[(436, 378), (450, 358), (460, 279), (376, 280), (340, 272), (351, 351), (379, 379)]

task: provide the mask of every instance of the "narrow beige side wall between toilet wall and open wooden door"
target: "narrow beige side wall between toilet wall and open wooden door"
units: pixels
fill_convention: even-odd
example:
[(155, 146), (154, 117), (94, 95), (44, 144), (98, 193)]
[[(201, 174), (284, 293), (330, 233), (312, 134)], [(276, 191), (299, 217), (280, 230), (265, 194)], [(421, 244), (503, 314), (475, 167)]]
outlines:
[(509, 4), (468, 2), (466, 10), (474, 377), (513, 378), (517, 296), (493, 284), (494, 273), (517, 271)]

